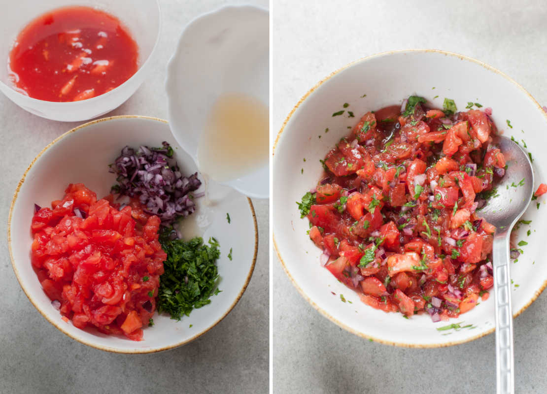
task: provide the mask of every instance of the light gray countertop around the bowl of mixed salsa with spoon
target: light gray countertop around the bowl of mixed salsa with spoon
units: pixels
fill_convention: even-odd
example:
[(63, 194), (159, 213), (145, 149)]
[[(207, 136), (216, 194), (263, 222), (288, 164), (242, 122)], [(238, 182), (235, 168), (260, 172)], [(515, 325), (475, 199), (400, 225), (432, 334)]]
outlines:
[[(547, 105), (545, 2), (319, 3), (274, 1), (274, 134), (300, 97), (330, 72), (397, 49), (443, 49), (474, 57), (507, 73)], [(275, 393), (496, 391), (493, 335), (443, 349), (370, 343), (313, 309), (277, 257), (272, 274)], [(517, 392), (547, 392), (546, 324), (544, 293), (514, 323)]]

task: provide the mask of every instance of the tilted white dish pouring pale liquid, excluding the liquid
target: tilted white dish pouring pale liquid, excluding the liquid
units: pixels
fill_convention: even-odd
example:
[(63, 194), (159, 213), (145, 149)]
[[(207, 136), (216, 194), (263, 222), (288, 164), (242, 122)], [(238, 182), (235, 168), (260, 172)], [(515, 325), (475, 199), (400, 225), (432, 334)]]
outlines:
[[(228, 6), (191, 21), (167, 66), (168, 120), (173, 136), (197, 162), (199, 136), (222, 93), (269, 104), (269, 14)], [(223, 182), (249, 197), (269, 197), (269, 166)]]

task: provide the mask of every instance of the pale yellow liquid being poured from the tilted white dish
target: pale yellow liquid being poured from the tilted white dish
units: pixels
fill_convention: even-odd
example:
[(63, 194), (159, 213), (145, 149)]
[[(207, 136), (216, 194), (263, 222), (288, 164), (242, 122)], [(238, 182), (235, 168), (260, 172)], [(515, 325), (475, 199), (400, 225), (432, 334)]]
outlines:
[(259, 99), (242, 93), (220, 96), (200, 135), (200, 172), (222, 182), (267, 164), (269, 123), (268, 107)]

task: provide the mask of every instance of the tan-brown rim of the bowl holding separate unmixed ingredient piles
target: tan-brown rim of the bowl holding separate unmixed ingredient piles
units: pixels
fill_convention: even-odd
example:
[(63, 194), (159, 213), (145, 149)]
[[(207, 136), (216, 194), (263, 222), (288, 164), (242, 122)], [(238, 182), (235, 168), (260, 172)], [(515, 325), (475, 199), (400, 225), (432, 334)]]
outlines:
[(226, 317), (226, 315), (228, 315), (230, 313), (230, 311), (232, 309), (234, 309), (235, 305), (237, 304), (237, 302), (241, 299), (241, 296), (243, 295), (243, 293), (245, 292), (245, 290), (247, 289), (247, 286), (249, 284), (249, 281), (251, 280), (251, 277), (253, 275), (253, 272), (254, 272), (254, 267), (255, 267), (255, 264), (257, 262), (257, 255), (258, 255), (258, 225), (257, 225), (257, 216), (255, 214), (255, 211), (254, 211), (254, 206), (253, 206), (253, 202), (251, 201), (250, 198), (247, 197), (247, 202), (249, 203), (249, 209), (251, 209), (251, 214), (253, 216), (253, 225), (254, 225), (254, 252), (253, 252), (253, 262), (251, 264), (251, 268), (249, 269), (249, 272), (247, 274), (247, 278), (245, 279), (245, 284), (243, 284), (243, 286), (241, 287), (241, 290), (240, 292), (238, 293), (236, 299), (234, 300), (234, 302), (232, 302), (232, 304), (230, 305), (230, 307), (228, 308), (228, 310), (225, 311), (225, 313), (220, 316), (219, 319), (217, 319), (216, 321), (214, 321), (209, 327), (207, 327), (205, 330), (199, 332), (199, 333), (196, 333), (193, 337), (189, 338), (189, 339), (186, 339), (186, 340), (182, 340), (180, 342), (177, 342), (177, 343), (174, 343), (174, 344), (171, 344), (171, 345), (167, 345), (167, 346), (162, 346), (161, 348), (153, 348), (153, 349), (117, 349), (117, 348), (113, 348), (113, 347), (109, 347), (109, 346), (102, 346), (102, 345), (97, 345), (95, 343), (92, 343), (90, 342), (89, 340), (86, 340), (86, 339), (82, 339), (82, 338), (78, 338), (77, 336), (74, 336), (73, 334), (71, 334), (70, 332), (68, 332), (67, 330), (65, 330), (65, 327), (62, 327), (60, 325), (57, 325), (52, 319), (49, 318), (48, 314), (45, 313), (44, 311), (42, 311), (40, 308), (38, 308), (37, 306), (37, 303), (34, 302), (33, 298), (29, 295), (29, 293), (27, 292), (26, 290), (26, 287), (25, 285), (22, 284), (22, 281), (21, 281), (21, 278), (19, 276), (19, 272), (18, 272), (18, 269), (16, 267), (16, 264), (15, 264), (15, 258), (13, 256), (13, 251), (11, 250), (11, 217), (13, 215), (13, 208), (14, 208), (14, 205), (15, 205), (15, 201), (19, 195), (19, 191), (21, 189), (21, 186), (24, 184), (25, 182), (25, 179), (27, 177), (27, 173), (30, 171), (30, 169), (32, 168), (32, 166), (34, 165), (34, 163), (36, 163), (36, 161), (40, 158), (40, 156), (42, 156), (46, 150), (48, 150), (49, 148), (51, 148), (51, 146), (53, 146), (55, 143), (59, 142), (60, 140), (62, 140), (63, 138), (66, 138), (68, 137), (69, 135), (71, 135), (72, 133), (74, 132), (77, 132), (78, 130), (81, 130), (87, 126), (91, 126), (91, 125), (94, 125), (94, 124), (97, 124), (99, 122), (104, 122), (104, 121), (109, 121), (109, 120), (118, 120), (118, 119), (146, 119), (146, 120), (153, 120), (153, 121), (158, 121), (158, 122), (161, 122), (161, 123), (164, 123), (164, 124), (167, 124), (168, 125), (168, 122), (165, 120), (165, 119), (160, 119), (159, 117), (153, 117), (153, 116), (143, 116), (143, 115), (118, 115), (118, 116), (109, 116), (109, 117), (103, 117), (101, 119), (96, 119), (96, 120), (92, 120), (90, 122), (86, 122), (84, 123), (83, 125), (79, 125), (77, 127), (74, 127), (72, 128), (71, 130), (67, 131), (66, 133), (63, 133), (61, 134), (61, 136), (55, 138), (52, 142), (50, 142), (47, 146), (45, 146), (44, 149), (42, 149), (42, 151), (39, 152), (39, 154), (34, 157), (34, 159), (31, 161), (31, 163), (29, 164), (28, 168), (25, 170), (25, 173), (22, 175), (21, 179), (19, 180), (19, 183), (17, 185), (17, 187), (15, 188), (15, 192), (14, 192), (14, 195), (13, 195), (13, 198), (11, 199), (11, 204), (10, 204), (10, 208), (9, 208), (9, 216), (8, 216), (8, 249), (9, 249), (9, 256), (10, 256), (10, 260), (11, 260), (11, 267), (13, 268), (14, 272), (15, 272), (15, 277), (17, 278), (18, 282), (19, 282), (19, 285), (21, 286), (21, 289), (25, 292), (25, 295), (27, 296), (28, 300), (31, 302), (32, 305), (34, 305), (34, 308), (36, 308), (39, 313), (47, 320), (49, 321), (53, 326), (55, 326), (56, 328), (59, 329), (59, 331), (65, 333), (68, 337), (74, 339), (74, 340), (77, 340), (78, 342), (80, 343), (83, 343), (84, 345), (88, 345), (88, 346), (91, 346), (91, 348), (95, 348), (95, 349), (98, 349), (98, 350), (105, 350), (105, 351), (109, 351), (109, 352), (113, 352), (113, 353), (120, 353), (120, 354), (144, 354), (144, 353), (155, 353), (155, 352), (160, 352), (160, 351), (164, 351), (164, 350), (169, 350), (169, 349), (174, 349), (174, 348), (177, 348), (178, 346), (182, 346), (182, 345), (185, 345), (187, 343), (190, 343), (192, 342), (193, 340), (201, 337), (203, 334), (205, 334), (206, 332), (208, 332), (209, 330), (211, 330), (211, 328), (213, 328), (214, 326), (216, 326), (217, 324), (219, 324), (219, 322), (221, 320), (224, 319), (224, 317)]

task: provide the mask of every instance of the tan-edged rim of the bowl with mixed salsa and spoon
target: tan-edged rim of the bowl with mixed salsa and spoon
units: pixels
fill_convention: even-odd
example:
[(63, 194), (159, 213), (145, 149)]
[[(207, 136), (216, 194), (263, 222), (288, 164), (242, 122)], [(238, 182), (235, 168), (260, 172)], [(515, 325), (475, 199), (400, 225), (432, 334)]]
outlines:
[[(394, 54), (429, 53), (429, 52), (434, 53), (434, 54), (441, 54), (441, 55), (446, 55), (446, 56), (457, 57), (460, 60), (467, 60), (467, 61), (479, 64), (479, 66), (482, 66), (482, 67), (486, 68), (487, 70), (489, 70), (491, 72), (494, 72), (494, 73), (497, 73), (497, 74), (501, 75), (503, 78), (507, 79), (509, 82), (516, 85), (516, 87), (518, 87), (522, 92), (524, 92), (532, 100), (532, 102), (534, 104), (536, 104), (538, 109), (543, 113), (543, 115), (545, 116), (545, 118), (547, 120), (547, 113), (543, 110), (542, 106), (536, 101), (536, 99), (530, 93), (528, 93), (528, 91), (526, 89), (524, 89), (513, 78), (509, 77), (509, 75), (501, 72), (497, 68), (494, 68), (494, 67), (490, 66), (490, 64), (487, 64), (487, 63), (482, 62), (480, 60), (476, 60), (473, 57), (457, 54), (456, 52), (449, 52), (449, 51), (444, 51), (444, 50), (439, 50), (439, 49), (401, 49), (401, 50), (392, 50), (392, 51), (380, 52), (378, 54), (373, 54), (373, 55), (370, 55), (370, 56), (364, 56), (364, 57), (361, 57), (361, 58), (359, 58), (357, 60), (354, 60), (350, 63), (347, 63), (347, 64), (345, 64), (345, 66), (342, 66), (339, 69), (335, 70), (334, 72), (331, 72), (329, 75), (327, 75), (327, 77), (320, 80), (315, 86), (313, 86), (309, 91), (307, 91), (305, 93), (305, 95), (300, 98), (298, 103), (296, 103), (294, 108), (289, 112), (286, 119), (283, 121), (283, 124), (280, 128), (280, 131), (278, 131), (276, 139), (275, 139), (274, 144), (272, 146), (272, 159), (275, 156), (275, 149), (277, 147), (277, 144), (279, 143), (281, 134), (283, 133), (285, 127), (287, 126), (287, 123), (290, 120), (290, 118), (293, 116), (295, 111), (300, 107), (300, 104), (302, 104), (311, 95), (311, 93), (313, 93), (313, 91), (315, 91), (325, 81), (329, 80), (331, 77), (334, 77), (334, 75), (336, 75), (338, 73), (341, 73), (346, 68), (350, 68), (350, 67), (356, 65), (357, 63), (365, 62), (365, 61), (371, 60), (373, 58), (384, 57), (384, 56), (389, 56), (389, 55), (394, 55)], [(274, 161), (272, 160), (272, 169), (273, 168), (274, 168)], [(274, 173), (275, 173), (275, 170), (274, 170)], [(273, 179), (272, 179), (272, 181), (273, 181)], [(274, 206), (273, 204), (274, 204), (274, 202), (272, 201), (272, 207)], [(327, 311), (325, 311), (323, 308), (319, 307), (319, 305), (317, 305), (309, 296), (306, 295), (304, 290), (301, 289), (301, 287), (298, 285), (298, 283), (296, 283), (296, 280), (289, 273), (289, 270), (287, 268), (287, 264), (284, 262), (283, 257), (281, 256), (280, 248), (277, 246), (277, 242), (276, 242), (276, 239), (275, 239), (275, 232), (274, 232), (273, 223), (272, 223), (272, 241), (273, 241), (273, 244), (274, 244), (274, 249), (275, 249), (276, 254), (277, 254), (277, 258), (280, 261), (284, 272), (288, 275), (290, 281), (292, 282), (294, 287), (296, 287), (296, 290), (298, 290), (300, 295), (302, 297), (304, 297), (304, 299), (307, 302), (309, 302), (312, 305), (313, 308), (315, 308), (317, 311), (319, 311), (319, 313), (321, 313), (323, 316), (327, 317), (327, 319), (334, 322), (334, 324), (336, 324), (337, 326), (339, 326), (341, 328), (344, 328), (344, 330), (349, 331), (352, 334), (355, 334), (358, 337), (365, 338), (365, 339), (368, 339), (370, 341), (379, 342), (379, 343), (386, 344), (386, 345), (398, 346), (398, 347), (401, 347), (401, 348), (426, 349), (426, 348), (445, 348), (445, 347), (448, 347), (448, 346), (454, 346), (454, 345), (459, 345), (459, 344), (466, 343), (466, 342), (471, 342), (472, 340), (485, 337), (488, 334), (491, 334), (496, 330), (496, 328), (493, 327), (493, 328), (490, 328), (490, 330), (487, 330), (483, 333), (477, 334), (475, 336), (472, 336), (472, 337), (469, 337), (469, 338), (466, 338), (466, 339), (452, 341), (452, 342), (432, 343), (432, 344), (415, 344), (415, 343), (405, 343), (405, 342), (393, 342), (393, 341), (389, 341), (389, 340), (385, 340), (385, 339), (375, 338), (375, 337), (373, 337), (369, 334), (365, 334), (364, 332), (358, 331), (358, 330), (356, 330), (356, 329), (354, 329), (350, 326), (347, 326), (346, 324), (344, 324), (344, 323), (340, 322), (339, 320), (335, 319)], [(545, 279), (543, 281), (542, 286), (540, 286), (540, 288), (538, 290), (536, 290), (536, 292), (534, 292), (534, 295), (532, 296), (530, 301), (528, 301), (520, 310), (513, 313), (513, 318), (519, 316), (534, 301), (536, 301), (536, 299), (543, 292), (543, 290), (545, 290), (545, 287), (547, 287), (547, 279)]]

